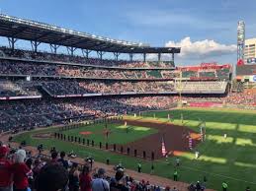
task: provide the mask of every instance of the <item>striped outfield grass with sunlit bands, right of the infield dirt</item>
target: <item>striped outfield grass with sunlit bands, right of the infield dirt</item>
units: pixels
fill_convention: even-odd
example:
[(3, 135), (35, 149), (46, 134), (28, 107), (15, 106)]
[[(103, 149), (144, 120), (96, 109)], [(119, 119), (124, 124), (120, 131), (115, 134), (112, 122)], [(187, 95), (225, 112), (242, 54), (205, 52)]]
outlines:
[(252, 175), (256, 169), (255, 111), (186, 108), (146, 113), (161, 121), (166, 121), (168, 114), (175, 124), (182, 124), (183, 115), (184, 124), (196, 131), (199, 131), (199, 124), (206, 121), (207, 141), (197, 148), (201, 157), (195, 159), (193, 153), (184, 155), (184, 168), (210, 176), (210, 186), (215, 189), (226, 180), (230, 190), (244, 190), (247, 185), (256, 190), (256, 177)]

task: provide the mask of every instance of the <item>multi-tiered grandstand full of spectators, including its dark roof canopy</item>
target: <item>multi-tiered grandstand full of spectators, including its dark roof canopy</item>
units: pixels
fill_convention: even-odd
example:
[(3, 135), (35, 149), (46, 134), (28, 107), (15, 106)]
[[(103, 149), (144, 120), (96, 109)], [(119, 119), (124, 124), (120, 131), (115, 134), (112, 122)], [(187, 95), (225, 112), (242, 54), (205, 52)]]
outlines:
[[(5, 130), (166, 109), (181, 95), (226, 96), (230, 90), (230, 64), (177, 67), (178, 47), (151, 47), (6, 15), (0, 15), (0, 36), (9, 41), (9, 47), (0, 48), (0, 125)], [(29, 40), (32, 50), (17, 49), (20, 39)], [(41, 43), (51, 52), (41, 52)], [(59, 46), (69, 54), (59, 54)], [(83, 56), (74, 54), (79, 49)], [(114, 58), (104, 59), (105, 52)], [(129, 60), (120, 60), (120, 54)], [(143, 55), (143, 61), (133, 60), (134, 54)], [(157, 54), (157, 60), (147, 61), (147, 54)], [(171, 60), (163, 61), (162, 54)]]

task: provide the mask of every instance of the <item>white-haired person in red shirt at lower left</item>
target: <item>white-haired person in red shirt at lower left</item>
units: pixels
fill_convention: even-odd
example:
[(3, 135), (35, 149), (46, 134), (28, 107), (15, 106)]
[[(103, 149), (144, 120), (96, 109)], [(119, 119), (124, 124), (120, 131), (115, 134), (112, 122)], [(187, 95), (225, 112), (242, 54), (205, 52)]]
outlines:
[(18, 150), (15, 153), (15, 163), (11, 166), (13, 172), (14, 191), (27, 191), (29, 187), (28, 176), (32, 174), (32, 170), (26, 165), (26, 152)]

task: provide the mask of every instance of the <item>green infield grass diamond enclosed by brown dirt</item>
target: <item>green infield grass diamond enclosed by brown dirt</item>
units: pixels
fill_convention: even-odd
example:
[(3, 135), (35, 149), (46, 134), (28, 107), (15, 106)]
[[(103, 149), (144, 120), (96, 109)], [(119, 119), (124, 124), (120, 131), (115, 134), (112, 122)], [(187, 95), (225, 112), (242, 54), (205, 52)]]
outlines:
[[(127, 133), (128, 128), (128, 133)], [(105, 130), (110, 131), (109, 136), (107, 138), (104, 133)], [(91, 135), (81, 135), (80, 132), (89, 131)], [(77, 129), (70, 129), (63, 131), (64, 135), (71, 135), (80, 138), (85, 138), (89, 140), (94, 140), (95, 145), (102, 142), (103, 144), (127, 144), (136, 140), (139, 140), (143, 137), (147, 137), (151, 134), (157, 133), (156, 129), (148, 128), (148, 127), (138, 127), (138, 126), (130, 126), (121, 125), (121, 124), (108, 124), (107, 129), (105, 128), (104, 123), (88, 125), (84, 127), (80, 127)]]

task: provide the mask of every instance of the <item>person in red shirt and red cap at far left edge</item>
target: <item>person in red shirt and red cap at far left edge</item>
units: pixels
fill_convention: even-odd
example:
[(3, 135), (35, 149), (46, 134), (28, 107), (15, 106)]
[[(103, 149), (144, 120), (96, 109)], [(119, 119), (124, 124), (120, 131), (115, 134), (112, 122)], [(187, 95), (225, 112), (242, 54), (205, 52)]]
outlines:
[(0, 147), (0, 191), (12, 190), (11, 161), (6, 159), (8, 152), (7, 147)]

